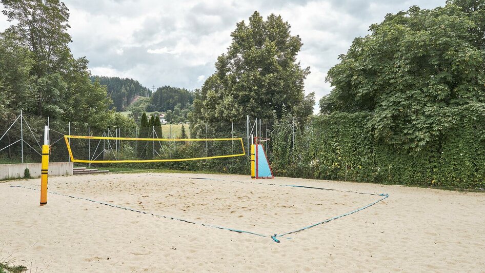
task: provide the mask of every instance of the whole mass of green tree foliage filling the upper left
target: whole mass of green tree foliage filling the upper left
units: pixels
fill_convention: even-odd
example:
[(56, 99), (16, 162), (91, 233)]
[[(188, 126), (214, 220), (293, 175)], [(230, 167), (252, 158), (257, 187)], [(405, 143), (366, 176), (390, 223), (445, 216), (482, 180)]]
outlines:
[(14, 25), (0, 34), (0, 115), (23, 109), (25, 114), (106, 128), (111, 100), (106, 88), (89, 80), (88, 61), (71, 54), (69, 10), (64, 3), (5, 0), (2, 4), (2, 12)]

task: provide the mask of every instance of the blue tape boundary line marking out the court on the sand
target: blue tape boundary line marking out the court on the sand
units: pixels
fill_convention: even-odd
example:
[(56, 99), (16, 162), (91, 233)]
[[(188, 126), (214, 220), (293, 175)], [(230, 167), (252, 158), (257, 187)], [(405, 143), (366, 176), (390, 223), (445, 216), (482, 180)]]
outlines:
[[(302, 227), (302, 228), (299, 228), (299, 229), (296, 229), (296, 230), (293, 230), (293, 231), (288, 231), (288, 232), (285, 232), (285, 233), (281, 233), (279, 235), (278, 234), (274, 234), (274, 235), (262, 235), (260, 233), (256, 233), (256, 232), (252, 232), (252, 231), (247, 231), (247, 230), (239, 230), (239, 229), (235, 229), (235, 228), (229, 228), (229, 227), (222, 227), (222, 226), (210, 225), (210, 224), (199, 223), (199, 222), (195, 222), (195, 221), (191, 221), (191, 220), (185, 220), (185, 219), (176, 218), (176, 217), (170, 217), (170, 216), (164, 216), (164, 215), (160, 215), (160, 214), (154, 214), (154, 213), (150, 213), (150, 212), (146, 212), (146, 211), (142, 211), (142, 210), (132, 209), (132, 208), (129, 208), (129, 207), (118, 206), (118, 205), (114, 205), (114, 204), (105, 203), (105, 202), (102, 202), (102, 201), (91, 200), (91, 199), (88, 199), (88, 198), (70, 196), (69, 194), (58, 193), (58, 192), (53, 192), (53, 191), (48, 191), (48, 192), (49, 193), (52, 193), (52, 194), (57, 194), (59, 196), (65, 196), (65, 197), (70, 197), (70, 198), (74, 198), (74, 199), (90, 201), (90, 202), (93, 202), (93, 203), (98, 203), (98, 204), (102, 204), (102, 205), (106, 205), (106, 206), (110, 206), (110, 207), (114, 207), (114, 208), (120, 208), (120, 209), (125, 209), (125, 210), (130, 210), (130, 211), (138, 212), (138, 213), (148, 214), (148, 215), (151, 215), (151, 216), (155, 216), (157, 218), (165, 218), (165, 219), (177, 220), (177, 221), (186, 222), (186, 223), (189, 223), (189, 224), (196, 224), (196, 225), (202, 225), (202, 226), (207, 226), (207, 227), (214, 227), (214, 228), (218, 228), (218, 229), (225, 229), (225, 230), (229, 230), (229, 231), (234, 231), (234, 232), (237, 232), (237, 233), (248, 233), (248, 234), (256, 235), (256, 236), (259, 236), (259, 237), (271, 238), (276, 243), (279, 243), (280, 242), (277, 239), (279, 237), (284, 237), (284, 236), (290, 235), (292, 233), (300, 232), (300, 231), (303, 231), (303, 230), (306, 230), (306, 229), (309, 229), (309, 228), (312, 228), (312, 227), (315, 227), (315, 226), (318, 226), (318, 225), (321, 225), (321, 224), (328, 223), (328, 222), (330, 222), (332, 220), (336, 220), (336, 219), (339, 219), (339, 218), (342, 218), (342, 217), (349, 216), (350, 214), (356, 213), (356, 212), (361, 211), (363, 209), (366, 209), (366, 208), (368, 208), (370, 206), (373, 206), (373, 205), (379, 203), (380, 201), (382, 201), (382, 200), (384, 200), (384, 199), (386, 199), (386, 198), (389, 197), (389, 194), (387, 194), (387, 193), (380, 193), (380, 194), (378, 194), (378, 193), (370, 193), (370, 192), (358, 192), (358, 191), (339, 190), (339, 189), (330, 189), (330, 188), (318, 188), (318, 187), (301, 186), (301, 185), (287, 185), (287, 184), (273, 184), (273, 183), (260, 183), (260, 182), (232, 181), (232, 180), (213, 179), (213, 178), (175, 177), (175, 176), (171, 176), (171, 175), (155, 175), (155, 174), (151, 174), (151, 175), (154, 175), (154, 176), (157, 176), (157, 177), (170, 177), (170, 178), (181, 178), (181, 179), (214, 180), (214, 181), (224, 181), (224, 182), (237, 182), (237, 183), (250, 183), (250, 184), (259, 184), (259, 185), (281, 186), (281, 187), (295, 187), (295, 188), (308, 188), (308, 189), (319, 189), (319, 190), (332, 190), (332, 191), (341, 191), (341, 192), (349, 192), (349, 193), (368, 194), (368, 195), (372, 195), (372, 196), (380, 196), (382, 198), (379, 199), (379, 200), (377, 200), (377, 201), (375, 201), (375, 202), (372, 202), (372, 203), (370, 203), (370, 204), (368, 204), (366, 206), (363, 206), (361, 208), (352, 210), (352, 211), (347, 212), (347, 213), (340, 214), (340, 215), (335, 216), (335, 217), (332, 217), (332, 218), (328, 218), (328, 219), (326, 219), (324, 221), (321, 221), (321, 222), (318, 222), (318, 223), (315, 223), (315, 224), (311, 224), (309, 226), (305, 226), (305, 227)], [(26, 188), (26, 189), (37, 190), (37, 191), (39, 190), (39, 189), (29, 188), (29, 187), (20, 186), (20, 185), (10, 186), (10, 187)]]

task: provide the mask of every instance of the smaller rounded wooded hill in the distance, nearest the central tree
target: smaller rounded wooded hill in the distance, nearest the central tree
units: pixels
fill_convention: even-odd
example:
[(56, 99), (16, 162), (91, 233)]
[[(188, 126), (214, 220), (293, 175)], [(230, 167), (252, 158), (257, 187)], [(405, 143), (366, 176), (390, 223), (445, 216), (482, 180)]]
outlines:
[[(179, 109), (187, 109), (193, 102), (192, 91), (171, 86), (159, 87), (151, 97), (152, 111), (173, 111), (177, 105)], [(150, 110), (147, 109), (147, 111)]]

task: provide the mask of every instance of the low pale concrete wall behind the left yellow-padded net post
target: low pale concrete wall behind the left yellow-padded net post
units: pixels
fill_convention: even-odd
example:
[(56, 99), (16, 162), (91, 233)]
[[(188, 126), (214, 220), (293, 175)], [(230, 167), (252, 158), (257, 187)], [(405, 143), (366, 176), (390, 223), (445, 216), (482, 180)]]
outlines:
[[(2, 164), (0, 165), (0, 180), (23, 178), (28, 168), (31, 177), (41, 176), (41, 163)], [(72, 175), (72, 162), (49, 162), (49, 175)]]

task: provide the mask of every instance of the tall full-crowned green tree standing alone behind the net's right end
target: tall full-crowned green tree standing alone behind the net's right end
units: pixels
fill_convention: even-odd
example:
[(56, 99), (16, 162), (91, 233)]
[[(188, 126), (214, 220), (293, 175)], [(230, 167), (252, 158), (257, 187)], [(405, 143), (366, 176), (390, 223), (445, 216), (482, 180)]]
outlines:
[(304, 80), (296, 55), (302, 46), (290, 24), (271, 14), (266, 21), (256, 11), (236, 24), (227, 53), (220, 55), (216, 72), (196, 90), (193, 118), (207, 122), (231, 122), (249, 114), (271, 119), (273, 111), (293, 110), (304, 100)]

